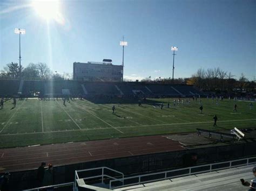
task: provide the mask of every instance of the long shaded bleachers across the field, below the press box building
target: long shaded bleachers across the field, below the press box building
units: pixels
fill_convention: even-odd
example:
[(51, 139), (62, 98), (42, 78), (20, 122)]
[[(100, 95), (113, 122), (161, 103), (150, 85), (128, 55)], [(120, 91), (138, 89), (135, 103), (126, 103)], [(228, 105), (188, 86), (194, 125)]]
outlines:
[(72, 95), (138, 95), (138, 96), (194, 96), (200, 91), (187, 85), (146, 84), (141, 82), (78, 82), (62, 81), (35, 81), (0, 80), (0, 95), (17, 95), (19, 89), (26, 96), (33, 93), (44, 95), (62, 95), (63, 89), (68, 89)]

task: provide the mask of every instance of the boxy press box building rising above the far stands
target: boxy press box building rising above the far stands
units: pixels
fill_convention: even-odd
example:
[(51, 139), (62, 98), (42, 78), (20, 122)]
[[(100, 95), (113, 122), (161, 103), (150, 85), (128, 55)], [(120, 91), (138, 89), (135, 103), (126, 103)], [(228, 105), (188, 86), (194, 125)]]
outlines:
[(112, 60), (103, 62), (73, 63), (73, 80), (77, 81), (114, 81), (121, 82), (123, 66), (112, 65)]

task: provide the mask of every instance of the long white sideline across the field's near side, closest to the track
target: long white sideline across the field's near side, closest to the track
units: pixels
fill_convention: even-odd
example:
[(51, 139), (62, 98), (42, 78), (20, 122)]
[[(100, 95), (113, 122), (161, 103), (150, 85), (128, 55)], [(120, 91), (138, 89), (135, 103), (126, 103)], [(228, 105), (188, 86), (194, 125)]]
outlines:
[[(256, 121), (256, 119), (240, 119), (240, 120), (227, 120), (227, 121), (218, 121), (221, 122), (243, 122), (243, 121)], [(209, 122), (191, 122), (191, 123), (169, 123), (169, 124), (154, 124), (154, 125), (138, 125), (138, 126), (117, 126), (116, 128), (139, 128), (142, 126), (166, 126), (166, 125), (185, 125), (185, 124), (204, 124), (204, 123), (213, 123)], [(115, 129), (113, 128), (95, 128), (95, 129), (77, 129), (77, 130), (67, 130), (67, 131), (45, 131), (45, 132), (32, 132), (32, 133), (13, 133), (13, 134), (2, 134), (0, 136), (12, 136), (12, 135), (30, 135), (30, 134), (40, 134), (40, 133), (53, 133), (53, 132), (70, 132), (70, 131), (90, 131), (90, 130), (105, 130), (105, 129)]]

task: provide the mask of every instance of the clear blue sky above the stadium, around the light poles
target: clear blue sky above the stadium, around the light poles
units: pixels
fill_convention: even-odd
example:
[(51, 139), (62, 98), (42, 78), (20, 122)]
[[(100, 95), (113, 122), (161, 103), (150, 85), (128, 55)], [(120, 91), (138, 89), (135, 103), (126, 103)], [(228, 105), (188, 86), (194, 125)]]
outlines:
[(96, 0), (60, 1), (63, 23), (38, 15), (32, 1), (0, 2), (0, 69), (18, 62), (45, 62), (53, 71), (72, 73), (73, 62), (112, 59), (129, 79), (172, 76), (171, 46), (177, 46), (174, 77), (199, 68), (220, 67), (235, 77), (256, 77), (254, 0)]

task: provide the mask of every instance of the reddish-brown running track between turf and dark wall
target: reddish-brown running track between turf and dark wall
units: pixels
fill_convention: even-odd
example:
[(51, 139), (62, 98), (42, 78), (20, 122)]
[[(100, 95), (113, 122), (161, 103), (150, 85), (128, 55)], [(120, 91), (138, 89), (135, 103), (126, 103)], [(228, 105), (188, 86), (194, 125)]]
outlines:
[(164, 136), (6, 148), (0, 150), (0, 173), (37, 168), (41, 162), (56, 166), (184, 149)]

